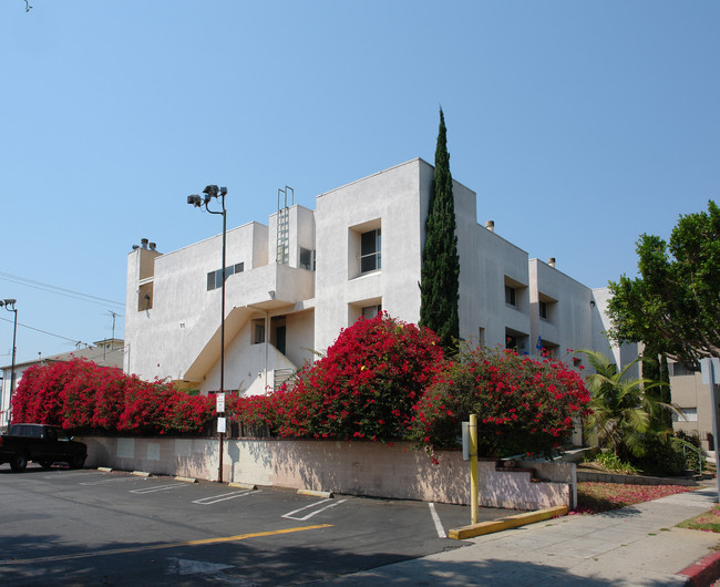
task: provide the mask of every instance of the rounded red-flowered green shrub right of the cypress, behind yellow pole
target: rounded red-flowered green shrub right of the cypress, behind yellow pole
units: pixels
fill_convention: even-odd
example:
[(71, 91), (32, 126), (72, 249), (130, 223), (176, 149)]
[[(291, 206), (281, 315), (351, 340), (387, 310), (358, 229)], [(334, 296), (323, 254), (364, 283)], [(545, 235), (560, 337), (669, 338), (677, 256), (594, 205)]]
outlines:
[(589, 402), (578, 373), (559, 360), (479, 348), (446, 363), (416, 403), (413, 440), (453, 446), (477, 414), (481, 456), (549, 453), (568, 440)]

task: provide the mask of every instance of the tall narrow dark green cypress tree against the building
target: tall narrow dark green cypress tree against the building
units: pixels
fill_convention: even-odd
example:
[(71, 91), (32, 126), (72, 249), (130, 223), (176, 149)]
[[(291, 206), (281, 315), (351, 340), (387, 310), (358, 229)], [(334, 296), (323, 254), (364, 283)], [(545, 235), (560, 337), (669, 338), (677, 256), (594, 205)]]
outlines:
[(442, 346), (454, 352), (460, 338), (460, 257), (446, 132), (445, 116), (440, 109), (435, 172), (425, 220), (425, 246), (422, 249), (420, 325), (434, 330)]

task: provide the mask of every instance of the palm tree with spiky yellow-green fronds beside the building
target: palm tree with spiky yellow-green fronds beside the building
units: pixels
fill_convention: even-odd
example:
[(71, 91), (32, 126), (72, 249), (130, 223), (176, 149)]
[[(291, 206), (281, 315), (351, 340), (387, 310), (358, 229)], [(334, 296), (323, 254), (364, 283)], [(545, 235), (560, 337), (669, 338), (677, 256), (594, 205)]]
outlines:
[(658, 429), (658, 420), (654, 416), (660, 410), (673, 408), (646, 393), (662, 382), (628, 377), (628, 371), (640, 359), (618, 372), (615, 363), (601, 352), (580, 352), (595, 370), (586, 378), (593, 413), (585, 419), (584, 429), (590, 444), (609, 449), (620, 459), (644, 456), (649, 437), (669, 432)]

